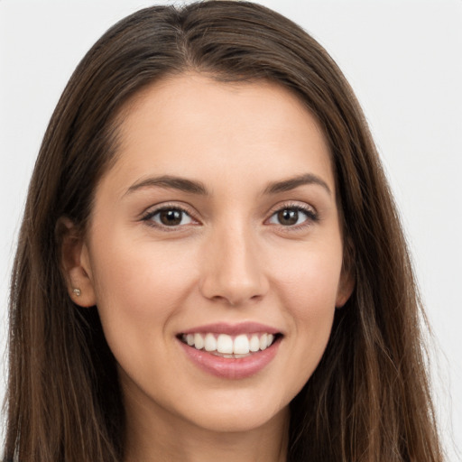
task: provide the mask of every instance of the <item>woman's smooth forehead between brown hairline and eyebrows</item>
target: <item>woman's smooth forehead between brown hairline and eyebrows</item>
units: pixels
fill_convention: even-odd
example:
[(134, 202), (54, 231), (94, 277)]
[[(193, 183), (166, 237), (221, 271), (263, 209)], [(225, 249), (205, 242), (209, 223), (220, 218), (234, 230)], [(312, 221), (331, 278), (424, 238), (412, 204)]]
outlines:
[(242, 184), (263, 184), (315, 173), (335, 189), (315, 117), (270, 82), (220, 82), (197, 73), (162, 79), (132, 98), (119, 120), (113, 170), (126, 181), (156, 173), (205, 182), (218, 176), (223, 184), (239, 175)]

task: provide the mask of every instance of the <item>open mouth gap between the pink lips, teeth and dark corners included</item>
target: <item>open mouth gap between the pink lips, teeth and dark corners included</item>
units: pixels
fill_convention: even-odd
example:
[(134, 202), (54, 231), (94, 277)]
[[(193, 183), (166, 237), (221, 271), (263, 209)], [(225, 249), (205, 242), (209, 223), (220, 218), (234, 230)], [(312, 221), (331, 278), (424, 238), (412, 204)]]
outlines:
[(210, 355), (230, 359), (252, 356), (271, 347), (282, 334), (269, 334), (266, 332), (254, 334), (240, 334), (229, 336), (216, 333), (189, 333), (180, 334), (178, 338), (182, 343), (197, 350), (208, 352)]

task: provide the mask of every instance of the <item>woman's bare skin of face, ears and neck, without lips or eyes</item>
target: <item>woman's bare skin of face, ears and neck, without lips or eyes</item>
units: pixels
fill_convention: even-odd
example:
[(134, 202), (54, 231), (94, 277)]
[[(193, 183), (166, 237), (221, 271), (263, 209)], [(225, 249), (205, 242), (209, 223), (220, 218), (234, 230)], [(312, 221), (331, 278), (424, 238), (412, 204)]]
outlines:
[[(301, 174), (318, 182), (267, 191)], [(199, 181), (208, 194), (140, 187), (164, 175)], [(188, 215), (178, 226), (144, 219), (163, 206)], [(309, 214), (282, 224), (277, 211), (297, 207)], [(353, 289), (328, 145), (300, 100), (271, 83), (193, 73), (155, 83), (125, 107), (86, 236), (71, 239), (66, 226), (69, 294), (97, 305), (117, 360), (126, 462), (284, 461), (288, 405)], [(201, 370), (177, 338), (245, 321), (283, 336), (273, 361), (245, 379)]]

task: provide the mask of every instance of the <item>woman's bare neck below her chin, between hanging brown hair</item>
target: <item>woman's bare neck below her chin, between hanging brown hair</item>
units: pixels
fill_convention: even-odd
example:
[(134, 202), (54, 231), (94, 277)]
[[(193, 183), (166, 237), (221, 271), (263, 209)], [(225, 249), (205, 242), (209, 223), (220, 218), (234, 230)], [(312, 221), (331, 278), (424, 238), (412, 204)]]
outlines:
[[(137, 410), (140, 411), (140, 410)], [(157, 408), (127, 412), (125, 462), (286, 462), (289, 410), (256, 429), (214, 431)]]

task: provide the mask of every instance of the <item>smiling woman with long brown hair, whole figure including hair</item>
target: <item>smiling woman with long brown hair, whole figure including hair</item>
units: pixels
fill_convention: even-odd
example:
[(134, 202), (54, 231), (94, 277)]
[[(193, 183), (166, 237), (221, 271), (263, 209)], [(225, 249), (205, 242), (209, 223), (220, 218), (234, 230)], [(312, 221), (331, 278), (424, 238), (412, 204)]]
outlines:
[(441, 460), (356, 98), (262, 6), (152, 7), (79, 64), (14, 265), (6, 460)]

